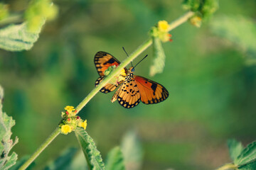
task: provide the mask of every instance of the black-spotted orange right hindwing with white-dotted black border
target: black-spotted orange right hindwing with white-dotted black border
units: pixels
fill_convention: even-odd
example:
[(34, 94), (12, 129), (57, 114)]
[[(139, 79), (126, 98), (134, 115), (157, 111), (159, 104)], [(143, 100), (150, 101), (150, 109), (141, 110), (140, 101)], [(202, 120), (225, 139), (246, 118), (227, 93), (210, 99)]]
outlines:
[[(124, 81), (124, 83), (117, 89), (117, 92), (114, 94), (113, 98), (117, 99), (117, 101), (124, 108), (133, 108), (137, 106), (140, 99), (139, 88), (134, 81), (134, 79), (130, 79), (128, 81)], [(115, 100), (113, 100), (112, 102)]]

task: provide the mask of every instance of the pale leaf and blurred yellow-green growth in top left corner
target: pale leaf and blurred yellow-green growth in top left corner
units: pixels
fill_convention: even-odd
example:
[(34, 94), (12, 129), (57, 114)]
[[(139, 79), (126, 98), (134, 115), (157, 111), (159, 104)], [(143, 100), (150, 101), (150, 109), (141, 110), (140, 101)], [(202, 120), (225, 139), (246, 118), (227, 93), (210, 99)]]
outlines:
[[(0, 4), (0, 20), (8, 21), (8, 5)], [(24, 17), (26, 22), (6, 26), (0, 30), (0, 48), (9, 51), (30, 50), (38, 40), (38, 34), (46, 23), (46, 19), (55, 18), (58, 8), (50, 0), (33, 0), (28, 6)], [(11, 18), (10, 18), (11, 20)]]

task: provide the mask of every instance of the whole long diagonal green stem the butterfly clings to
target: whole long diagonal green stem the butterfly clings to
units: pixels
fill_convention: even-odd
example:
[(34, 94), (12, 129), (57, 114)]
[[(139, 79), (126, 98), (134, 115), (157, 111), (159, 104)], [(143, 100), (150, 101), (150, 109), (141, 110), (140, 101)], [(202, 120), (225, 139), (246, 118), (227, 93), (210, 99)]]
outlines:
[[(188, 20), (188, 18), (190, 18), (191, 16), (193, 16), (193, 12), (188, 12), (188, 13), (184, 14), (183, 16), (181, 16), (181, 18), (178, 18), (173, 23), (170, 23), (169, 31), (173, 30), (177, 26), (180, 26), (182, 23), (185, 23)], [(107, 84), (108, 81), (110, 81), (114, 76), (119, 74), (119, 72), (121, 72), (121, 70), (124, 67), (126, 67), (130, 62), (132, 62), (132, 60), (134, 60), (136, 57), (138, 57), (140, 54), (142, 54), (142, 52), (144, 52), (144, 50), (146, 50), (151, 44), (152, 44), (152, 40), (151, 40), (151, 38), (149, 38), (144, 43), (142, 43), (142, 45), (140, 45), (137, 48), (137, 50), (132, 52), (132, 55), (130, 55), (124, 61), (122, 61), (121, 64), (119, 64), (119, 66), (117, 67), (117, 69), (114, 69), (114, 71), (111, 72), (110, 75), (105, 77), (105, 79), (103, 79), (102, 82), (97, 87), (95, 87), (95, 89), (93, 89), (90, 92), (90, 94), (88, 94), (81, 101), (81, 103), (79, 103), (79, 105), (76, 107), (77, 113), (79, 111), (81, 111), (83, 107), (85, 107), (85, 105), (93, 98), (93, 96), (95, 96), (97, 94), (97, 92), (100, 91), (100, 89), (102, 89), (103, 86), (105, 86)], [(45, 149), (50, 144), (50, 142), (52, 142), (55, 139), (55, 137), (57, 137), (59, 134), (60, 134), (60, 129), (57, 128), (50, 135), (50, 137), (48, 137), (48, 139), (41, 145), (41, 147), (39, 147), (38, 150), (31, 156), (31, 158), (28, 159), (28, 161), (26, 161), (25, 164), (23, 164), (23, 166), (21, 166), (20, 170), (26, 169), (33, 162), (33, 160), (35, 160), (36, 157), (38, 157), (38, 155), (43, 151), (43, 149)]]

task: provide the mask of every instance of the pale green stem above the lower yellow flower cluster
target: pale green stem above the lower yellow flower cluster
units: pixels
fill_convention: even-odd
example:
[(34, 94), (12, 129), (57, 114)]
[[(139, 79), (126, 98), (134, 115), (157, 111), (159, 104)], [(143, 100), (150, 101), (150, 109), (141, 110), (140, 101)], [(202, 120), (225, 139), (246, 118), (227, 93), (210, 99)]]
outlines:
[[(188, 18), (190, 18), (191, 16), (193, 16), (194, 12), (189, 11), (188, 13), (185, 13), (183, 16), (181, 16), (180, 18), (178, 18), (176, 21), (172, 22), (169, 24), (169, 31), (173, 30), (174, 28), (180, 26), (182, 23), (185, 23)], [(130, 62), (132, 62), (132, 60), (134, 60), (136, 57), (138, 57), (140, 54), (142, 54), (142, 52), (144, 52), (144, 50), (146, 50), (150, 45), (152, 44), (152, 39), (149, 38), (149, 40), (146, 40), (144, 43), (142, 43), (142, 45), (140, 45), (137, 50), (135, 50), (134, 52), (132, 52), (132, 55), (130, 55), (129, 57), (127, 57), (124, 61), (121, 62), (121, 64), (119, 64), (119, 66), (117, 67), (117, 69), (114, 69), (113, 72), (111, 72), (110, 75), (108, 75), (107, 77), (105, 77), (105, 79), (102, 80), (102, 82), (100, 82), (100, 84), (95, 87), (95, 89), (93, 89), (90, 94), (88, 94), (82, 101), (81, 103), (79, 103), (79, 105), (76, 107), (76, 110), (79, 112), (81, 111), (81, 109), (83, 107), (85, 107), (85, 105), (90, 101), (90, 99), (93, 98), (93, 96), (95, 96), (95, 94), (97, 94), (97, 92), (100, 91), (100, 89), (102, 89), (103, 86), (105, 86), (107, 84), (108, 81), (110, 81), (112, 79), (112, 77), (117, 76), (117, 74), (119, 74), (119, 72), (121, 72), (121, 70), (126, 67)], [(78, 113), (77, 112), (77, 113)]]

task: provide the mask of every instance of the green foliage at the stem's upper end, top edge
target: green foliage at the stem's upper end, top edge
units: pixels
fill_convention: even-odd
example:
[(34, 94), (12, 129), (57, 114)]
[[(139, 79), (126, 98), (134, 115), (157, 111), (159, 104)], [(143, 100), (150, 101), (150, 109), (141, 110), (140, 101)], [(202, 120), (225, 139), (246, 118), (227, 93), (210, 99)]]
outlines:
[(218, 0), (184, 0), (183, 8), (196, 12), (196, 16), (208, 19), (218, 9)]

